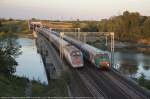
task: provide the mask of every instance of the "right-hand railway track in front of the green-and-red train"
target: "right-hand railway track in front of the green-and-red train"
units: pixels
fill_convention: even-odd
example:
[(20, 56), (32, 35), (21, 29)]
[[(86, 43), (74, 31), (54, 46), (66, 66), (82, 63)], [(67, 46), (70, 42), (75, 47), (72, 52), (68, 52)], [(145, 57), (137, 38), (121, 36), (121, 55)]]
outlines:
[[(117, 74), (114, 74), (113, 71), (100, 71), (91, 66), (87, 67), (88, 73), (91, 74), (96, 82), (103, 82), (103, 86), (105, 86), (105, 90), (103, 90), (110, 99), (149, 99), (145, 95), (138, 92), (136, 89), (131, 87), (128, 83), (122, 80), (122, 78), (118, 77)], [(105, 84), (106, 83), (106, 84)], [(107, 87), (110, 87), (114, 90), (107, 90)], [(101, 87), (101, 86), (99, 86)], [(102, 87), (101, 87), (102, 88)], [(109, 92), (110, 91), (110, 92)]]

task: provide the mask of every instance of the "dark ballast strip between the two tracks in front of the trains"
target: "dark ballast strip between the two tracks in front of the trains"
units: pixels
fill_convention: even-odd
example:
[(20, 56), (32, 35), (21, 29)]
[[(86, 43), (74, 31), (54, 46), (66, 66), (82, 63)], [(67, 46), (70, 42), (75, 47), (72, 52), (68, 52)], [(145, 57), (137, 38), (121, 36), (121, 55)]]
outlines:
[(87, 67), (87, 73), (93, 78), (92, 80), (98, 87), (107, 95), (109, 99), (131, 99), (125, 93), (122, 93), (120, 88), (115, 86), (106, 76), (100, 73), (99, 70)]

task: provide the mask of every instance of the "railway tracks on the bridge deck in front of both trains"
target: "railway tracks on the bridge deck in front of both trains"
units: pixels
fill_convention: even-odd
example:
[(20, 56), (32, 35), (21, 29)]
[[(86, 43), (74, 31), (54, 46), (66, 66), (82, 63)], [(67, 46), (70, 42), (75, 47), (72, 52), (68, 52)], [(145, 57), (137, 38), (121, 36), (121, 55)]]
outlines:
[[(71, 67), (71, 66), (68, 66)], [(93, 98), (99, 99), (150, 99), (135, 89), (134, 86), (114, 71), (101, 71), (90, 63), (86, 63), (82, 69), (73, 69), (72, 72), (84, 83), (86, 91)], [(82, 90), (82, 89), (81, 89)], [(87, 92), (88, 93), (88, 92)]]

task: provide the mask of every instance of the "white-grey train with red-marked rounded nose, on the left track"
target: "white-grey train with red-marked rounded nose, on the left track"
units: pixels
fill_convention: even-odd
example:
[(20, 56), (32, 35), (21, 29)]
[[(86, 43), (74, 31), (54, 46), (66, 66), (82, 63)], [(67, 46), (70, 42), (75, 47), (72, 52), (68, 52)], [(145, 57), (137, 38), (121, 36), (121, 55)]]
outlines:
[[(60, 38), (56, 35), (50, 33), (46, 28), (39, 28), (38, 33), (42, 34), (47, 40), (53, 43), (53, 45), (59, 50), (60, 48)], [(63, 44), (63, 56), (65, 57), (66, 61), (73, 67), (73, 68), (81, 68), (84, 66), (83, 55), (82, 52), (73, 46), (72, 44), (68, 43), (65, 40), (61, 42)]]

